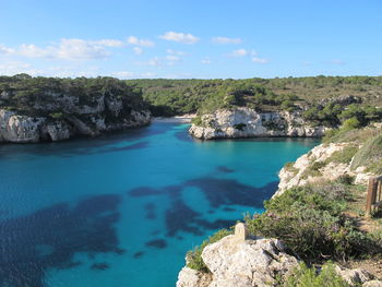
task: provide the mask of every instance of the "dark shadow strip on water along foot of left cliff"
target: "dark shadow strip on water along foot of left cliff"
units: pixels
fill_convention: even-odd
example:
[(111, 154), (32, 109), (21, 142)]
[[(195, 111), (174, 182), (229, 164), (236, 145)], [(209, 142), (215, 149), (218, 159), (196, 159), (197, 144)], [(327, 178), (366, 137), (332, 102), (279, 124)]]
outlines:
[[(17, 157), (21, 155), (73, 157), (102, 153), (114, 153), (129, 150), (145, 148), (148, 136), (166, 133), (174, 129), (174, 123), (153, 123), (148, 127), (134, 128), (118, 132), (107, 132), (96, 137), (79, 136), (69, 141), (37, 144), (0, 144), (1, 157)], [(139, 143), (131, 143), (140, 141)]]

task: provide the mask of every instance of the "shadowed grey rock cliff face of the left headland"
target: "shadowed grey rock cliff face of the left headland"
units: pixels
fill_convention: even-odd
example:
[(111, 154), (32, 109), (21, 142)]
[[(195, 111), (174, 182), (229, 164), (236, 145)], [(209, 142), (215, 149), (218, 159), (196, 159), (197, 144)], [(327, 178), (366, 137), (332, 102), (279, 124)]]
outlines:
[[(9, 97), (5, 92), (1, 97)], [(41, 96), (43, 97), (43, 96)], [(47, 100), (48, 98), (48, 100)], [(0, 142), (62, 141), (73, 135), (97, 135), (105, 131), (148, 124), (151, 112), (132, 109), (112, 95), (100, 95), (81, 104), (77, 97), (48, 93), (35, 103), (36, 115), (0, 109)], [(57, 110), (61, 112), (55, 112)]]

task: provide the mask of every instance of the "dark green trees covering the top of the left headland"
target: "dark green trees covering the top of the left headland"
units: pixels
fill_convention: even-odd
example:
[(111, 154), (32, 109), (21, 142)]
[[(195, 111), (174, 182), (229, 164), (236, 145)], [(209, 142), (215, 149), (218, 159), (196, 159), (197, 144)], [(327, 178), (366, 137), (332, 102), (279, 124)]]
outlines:
[[(0, 76), (0, 108), (20, 115), (60, 119), (77, 113), (73, 106), (96, 108), (103, 96), (121, 100), (126, 113), (146, 108), (139, 88), (114, 77)], [(105, 116), (112, 118), (112, 113)]]

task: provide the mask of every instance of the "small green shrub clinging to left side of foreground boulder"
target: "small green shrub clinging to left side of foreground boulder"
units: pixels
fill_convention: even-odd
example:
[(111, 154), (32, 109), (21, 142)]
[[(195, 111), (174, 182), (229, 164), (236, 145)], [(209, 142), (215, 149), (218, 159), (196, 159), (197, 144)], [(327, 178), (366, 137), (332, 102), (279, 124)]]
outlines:
[(207, 240), (204, 240), (201, 246), (195, 247), (193, 250), (190, 250), (187, 253), (187, 266), (192, 268), (192, 270), (196, 270), (196, 271), (201, 271), (201, 272), (210, 272), (207, 266), (204, 264), (203, 259), (202, 259), (203, 249), (207, 244), (212, 244), (212, 243), (220, 240), (223, 237), (226, 237), (226, 236), (231, 235), (231, 234), (232, 234), (231, 230), (220, 229), (216, 234), (208, 237)]

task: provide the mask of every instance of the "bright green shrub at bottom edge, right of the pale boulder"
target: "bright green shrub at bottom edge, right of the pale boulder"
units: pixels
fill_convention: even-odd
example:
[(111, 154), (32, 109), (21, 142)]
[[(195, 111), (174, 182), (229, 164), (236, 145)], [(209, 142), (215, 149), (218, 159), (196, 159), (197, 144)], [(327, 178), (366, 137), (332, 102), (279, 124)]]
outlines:
[(309, 268), (301, 263), (295, 272), (287, 278), (286, 287), (349, 287), (341, 276), (335, 272), (331, 263), (322, 266), (320, 273), (314, 267)]

